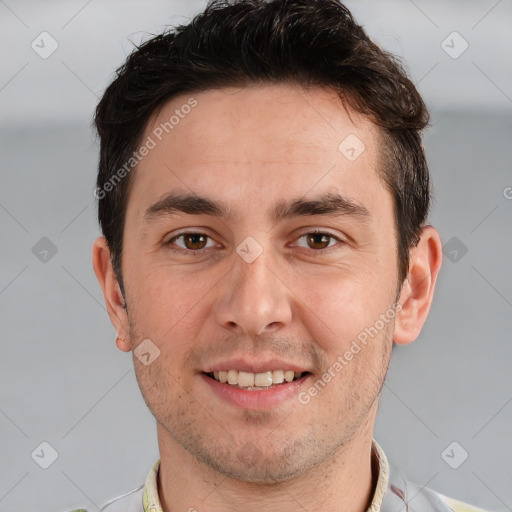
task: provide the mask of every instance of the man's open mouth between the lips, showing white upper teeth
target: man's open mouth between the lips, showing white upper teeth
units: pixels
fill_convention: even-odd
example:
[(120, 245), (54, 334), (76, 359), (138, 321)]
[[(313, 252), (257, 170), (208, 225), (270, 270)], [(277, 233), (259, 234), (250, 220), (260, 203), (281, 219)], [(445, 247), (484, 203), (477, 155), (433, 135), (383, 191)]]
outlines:
[(245, 391), (265, 391), (304, 379), (309, 372), (293, 370), (272, 370), (252, 373), (238, 370), (203, 372), (210, 379)]

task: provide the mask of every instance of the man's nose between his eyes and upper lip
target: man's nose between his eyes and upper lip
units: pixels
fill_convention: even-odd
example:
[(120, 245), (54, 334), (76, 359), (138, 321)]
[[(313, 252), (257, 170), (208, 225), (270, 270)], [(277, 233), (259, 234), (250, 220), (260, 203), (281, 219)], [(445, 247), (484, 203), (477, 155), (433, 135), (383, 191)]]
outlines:
[(268, 334), (291, 322), (293, 292), (270, 251), (265, 248), (250, 263), (234, 253), (233, 267), (219, 284), (216, 319), (234, 334)]

